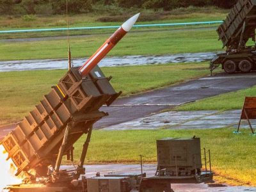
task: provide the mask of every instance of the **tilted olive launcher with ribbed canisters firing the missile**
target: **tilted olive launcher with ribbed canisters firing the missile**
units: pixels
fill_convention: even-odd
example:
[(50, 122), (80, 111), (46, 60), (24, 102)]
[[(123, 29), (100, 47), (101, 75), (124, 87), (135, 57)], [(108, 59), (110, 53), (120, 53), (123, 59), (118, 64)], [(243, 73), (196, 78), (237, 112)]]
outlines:
[[(71, 68), (52, 86), (40, 104), (1, 141), (8, 158), (12, 158), (18, 168), (16, 175), (23, 172), (28, 182), (33, 182), (35, 174), (29, 172), (33, 169), (36, 177), (48, 184), (77, 180), (84, 174), (92, 126), (108, 115), (99, 108), (104, 104), (109, 106), (121, 94), (115, 92), (109, 80), (99, 67), (84, 77), (77, 68)], [(79, 166), (74, 172), (60, 170), (64, 155), (73, 161), (73, 145), (83, 134), (87, 134), (87, 139)], [(53, 168), (51, 174), (48, 166)]]

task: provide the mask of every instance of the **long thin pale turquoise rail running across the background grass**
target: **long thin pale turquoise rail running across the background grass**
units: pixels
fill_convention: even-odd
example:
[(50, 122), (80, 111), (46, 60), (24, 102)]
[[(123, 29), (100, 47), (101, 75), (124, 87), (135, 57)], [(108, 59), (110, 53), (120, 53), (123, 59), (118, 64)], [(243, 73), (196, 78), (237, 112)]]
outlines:
[[(191, 25), (203, 25), (203, 24), (221, 24), (222, 20), (216, 21), (203, 21), (203, 22), (182, 22), (182, 23), (166, 23), (166, 24), (143, 24), (134, 25), (134, 28), (150, 28), (150, 27), (171, 27), (171, 26), (191, 26)], [(81, 28), (69, 28), (70, 31), (76, 30), (90, 30), (90, 29), (113, 29), (120, 26), (99, 26), (99, 27), (81, 27)], [(8, 30), (0, 31), (0, 33), (31, 33), (31, 32), (49, 32), (49, 31), (67, 31), (67, 28), (53, 28), (53, 29), (20, 29), (20, 30)]]

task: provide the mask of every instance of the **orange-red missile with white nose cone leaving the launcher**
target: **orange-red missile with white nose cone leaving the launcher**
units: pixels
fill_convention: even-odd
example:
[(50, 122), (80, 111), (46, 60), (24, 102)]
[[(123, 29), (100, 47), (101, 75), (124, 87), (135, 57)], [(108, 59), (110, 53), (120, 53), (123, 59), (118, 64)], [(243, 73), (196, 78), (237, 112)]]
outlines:
[(79, 68), (79, 72), (81, 76), (86, 76), (106, 54), (108, 54), (113, 47), (128, 33), (138, 17), (140, 13), (134, 15), (130, 19), (124, 22), (120, 28), (118, 28), (113, 35), (111, 35), (108, 40), (84, 63), (84, 65)]

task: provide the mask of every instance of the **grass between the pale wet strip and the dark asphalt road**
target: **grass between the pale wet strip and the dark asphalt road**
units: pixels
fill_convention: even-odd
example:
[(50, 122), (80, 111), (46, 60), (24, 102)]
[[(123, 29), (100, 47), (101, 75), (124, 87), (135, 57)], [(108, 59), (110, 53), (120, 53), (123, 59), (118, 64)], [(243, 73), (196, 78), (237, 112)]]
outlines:
[[(208, 63), (179, 63), (132, 67), (104, 67), (111, 84), (123, 96), (180, 83), (209, 74)], [(15, 122), (33, 109), (66, 70), (1, 72), (0, 125)]]

